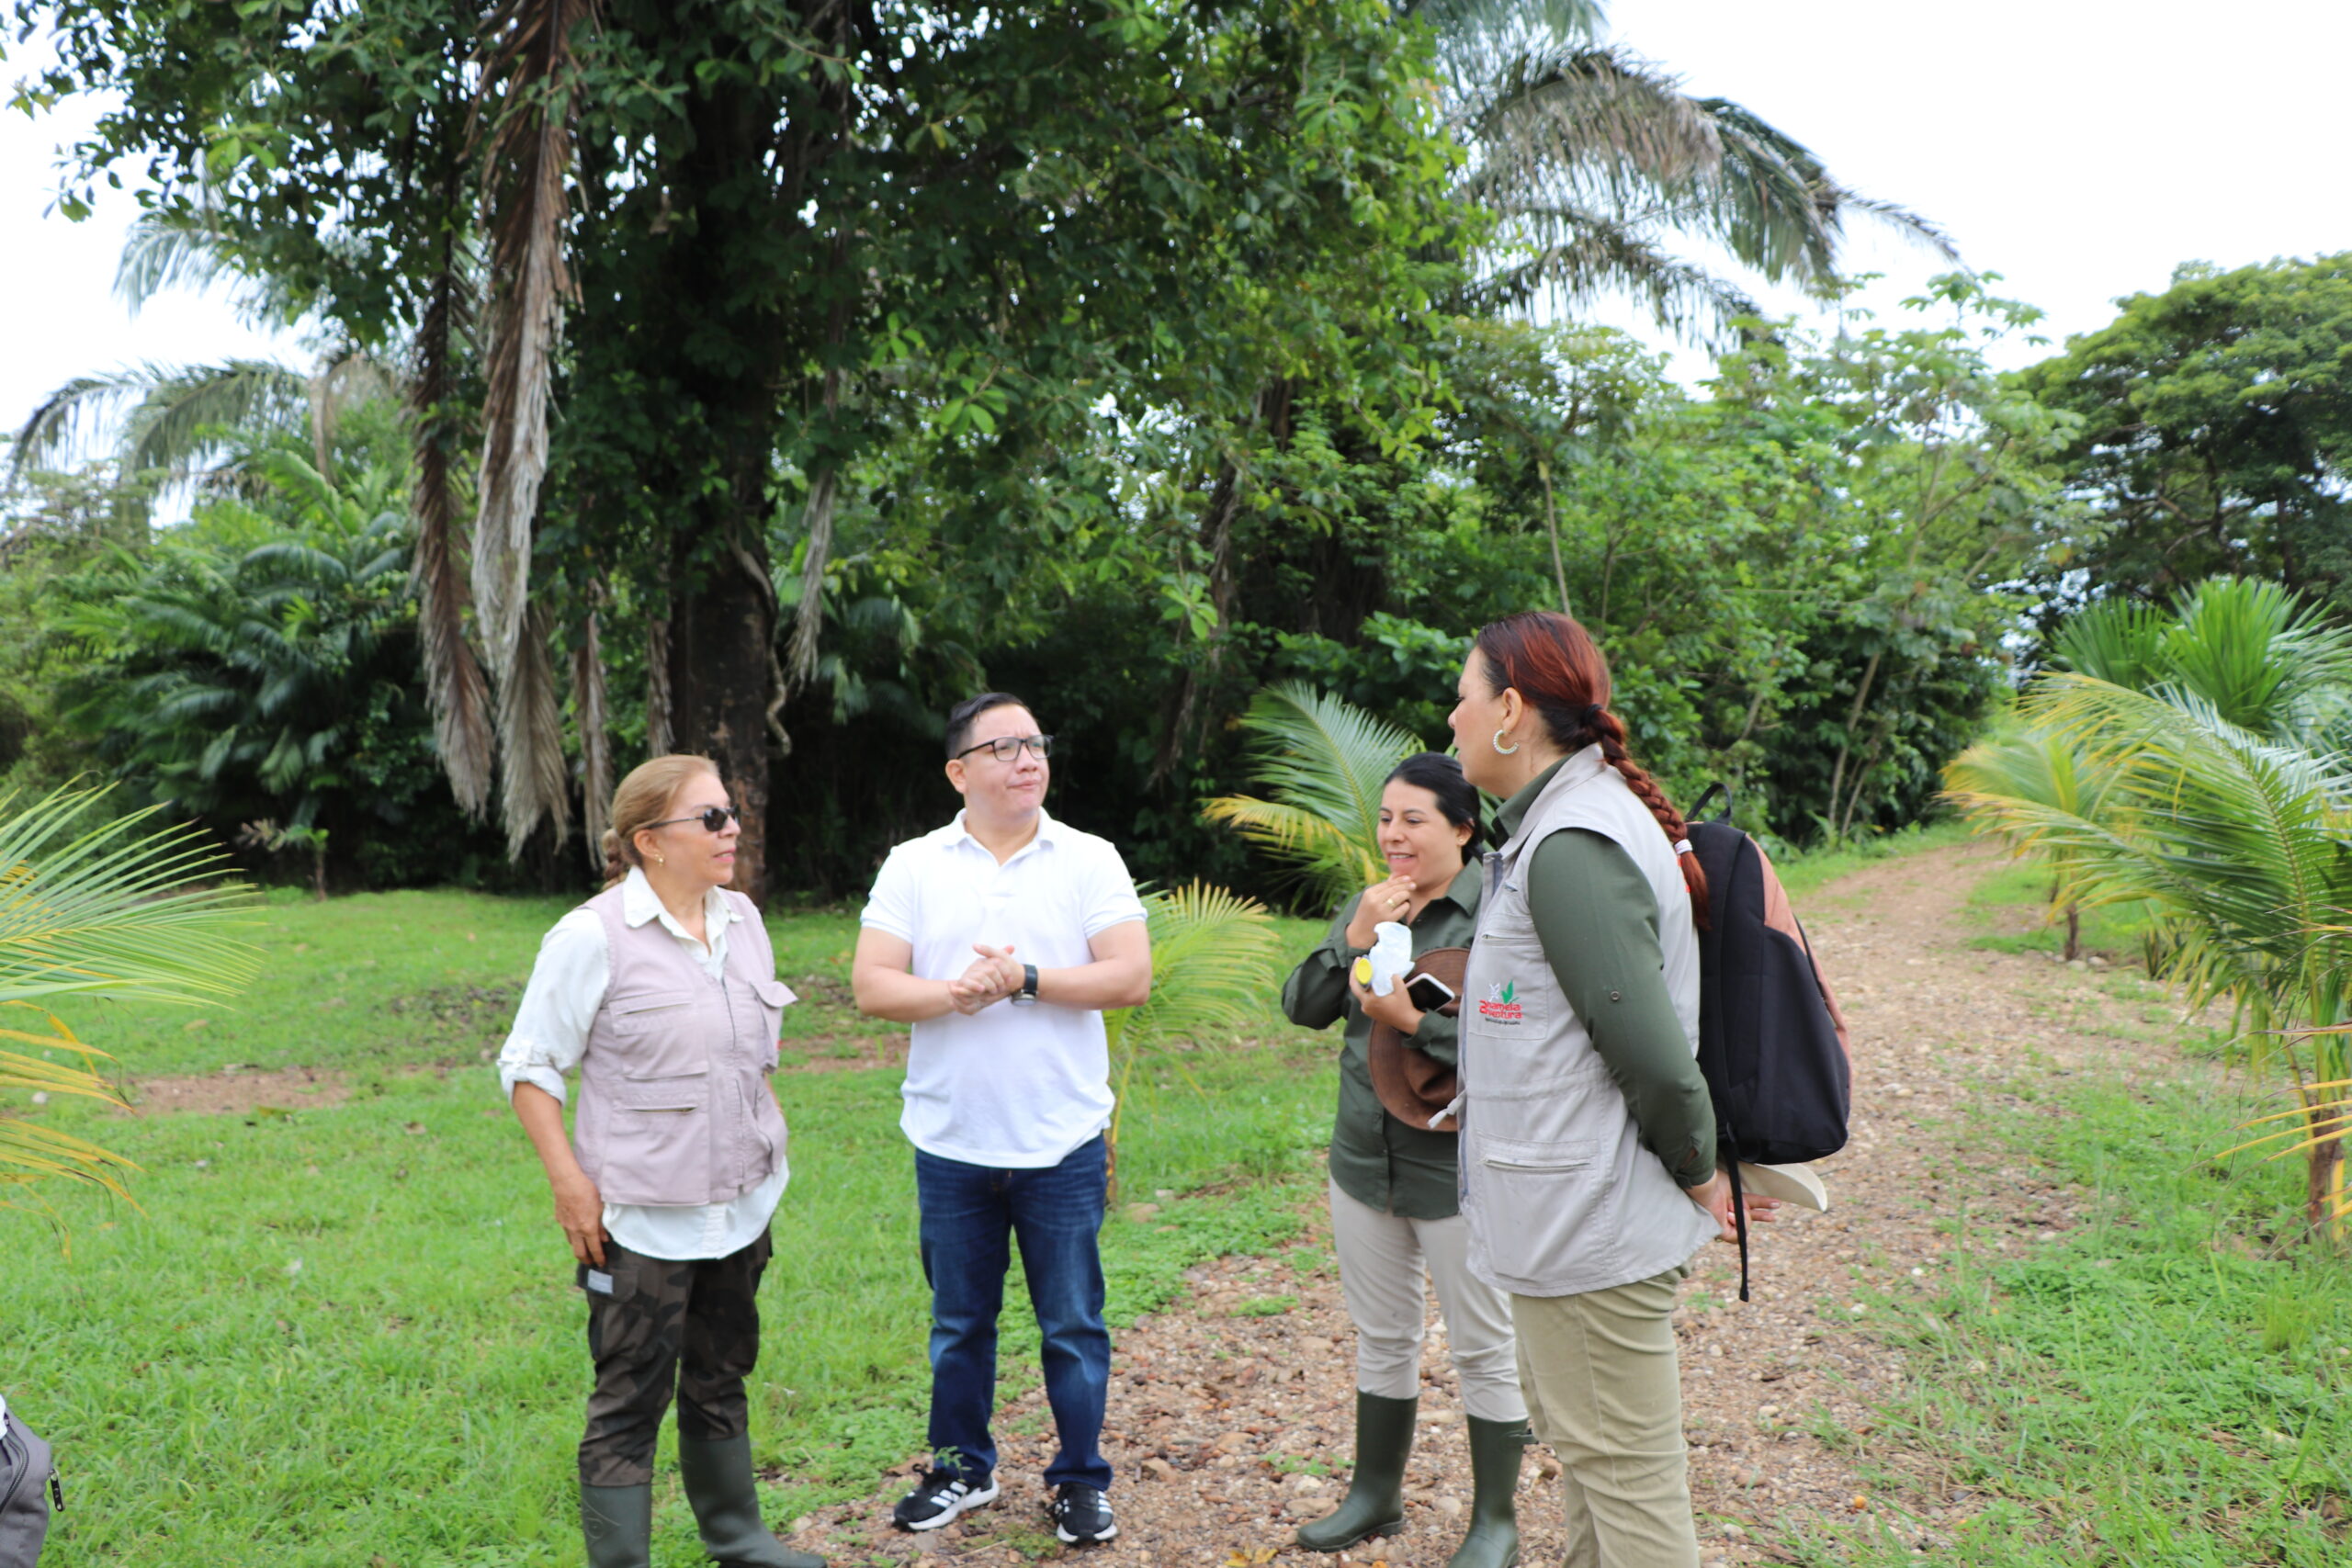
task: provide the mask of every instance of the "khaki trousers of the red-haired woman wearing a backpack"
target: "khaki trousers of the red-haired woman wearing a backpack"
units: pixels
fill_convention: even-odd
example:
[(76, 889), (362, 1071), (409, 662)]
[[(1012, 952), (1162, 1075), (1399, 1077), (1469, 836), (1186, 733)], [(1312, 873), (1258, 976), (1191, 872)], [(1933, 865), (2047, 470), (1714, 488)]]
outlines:
[(1689, 1272), (1510, 1298), (1529, 1425), (1559, 1455), (1562, 1568), (1698, 1566), (1672, 1324)]

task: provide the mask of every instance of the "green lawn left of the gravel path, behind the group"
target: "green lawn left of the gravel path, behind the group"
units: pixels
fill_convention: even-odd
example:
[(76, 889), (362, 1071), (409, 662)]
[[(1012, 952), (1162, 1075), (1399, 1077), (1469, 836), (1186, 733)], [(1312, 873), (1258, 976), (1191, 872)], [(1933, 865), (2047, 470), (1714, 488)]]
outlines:
[[(355, 1093), (252, 1117), (31, 1112), (143, 1166), (139, 1211), (54, 1194), (71, 1255), (38, 1220), (0, 1213), (0, 1389), (56, 1443), (71, 1486), (45, 1568), (579, 1561), (583, 1307), (539, 1164), (480, 1060), (562, 907), (273, 903), (270, 976), (242, 1011), (195, 1032), (160, 1009), (85, 1027), (139, 1074), (325, 1065)], [(851, 917), (786, 914), (771, 931), (786, 978), (840, 983)], [(1305, 950), (1319, 926), (1284, 936)], [(861, 1027), (847, 994), (802, 990), (800, 1037)], [(414, 1006), (459, 992), (501, 999), (440, 1018)], [(1178, 1295), (1202, 1258), (1298, 1234), (1334, 1044), (1270, 1025), (1249, 1046), (1192, 1053), (1204, 1095), (1138, 1074), (1122, 1199), (1169, 1197), (1143, 1220), (1115, 1208), (1105, 1227), (1117, 1324)], [(769, 1516), (790, 1519), (866, 1495), (920, 1450), (927, 1295), (898, 1074), (790, 1074), (781, 1088), (793, 1187), (762, 1288), (753, 1436), (788, 1472)], [(1018, 1392), (1035, 1382), (1035, 1326), (1014, 1307), (1004, 1328), (1004, 1389)], [(656, 1563), (682, 1568), (701, 1554), (668, 1469), (663, 1488)]]

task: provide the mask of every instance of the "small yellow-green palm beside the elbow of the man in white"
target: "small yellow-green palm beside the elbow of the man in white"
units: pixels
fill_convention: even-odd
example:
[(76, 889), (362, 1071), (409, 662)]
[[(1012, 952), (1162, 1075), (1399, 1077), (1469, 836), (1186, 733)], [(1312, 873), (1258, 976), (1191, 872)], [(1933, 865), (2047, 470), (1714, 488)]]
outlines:
[(1103, 1016), (1110, 1086), (1117, 1093), (1108, 1133), (1112, 1157), (1136, 1067), (1145, 1060), (1167, 1063), (1192, 1081), (1171, 1048), (1256, 1027), (1282, 985), (1282, 936), (1258, 900), (1195, 882), (1145, 889), (1143, 914), (1152, 936), (1152, 994), (1141, 1006)]

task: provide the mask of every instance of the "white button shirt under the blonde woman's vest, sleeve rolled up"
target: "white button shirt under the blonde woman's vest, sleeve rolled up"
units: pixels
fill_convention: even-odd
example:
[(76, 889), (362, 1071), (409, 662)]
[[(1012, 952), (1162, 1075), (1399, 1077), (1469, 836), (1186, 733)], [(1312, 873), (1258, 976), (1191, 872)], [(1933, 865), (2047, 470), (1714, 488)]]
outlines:
[[(727, 969), (727, 929), (736, 922), (736, 912), (717, 889), (703, 896), (708, 945), (687, 936), (637, 867), (621, 882), (621, 919), (630, 926), (659, 919), (663, 931), (691, 950), (703, 973), (717, 978)], [(536, 1084), (555, 1095), (557, 1105), (564, 1103), (564, 1074), (579, 1067), (588, 1051), (588, 1025), (604, 1006), (607, 985), (612, 985), (612, 954), (604, 952), (604, 922), (595, 910), (572, 910), (539, 940), (539, 961), (532, 964), (532, 980), (522, 987), (515, 1027), (499, 1048), (499, 1088), (508, 1100), (515, 1098), (515, 1084)], [(776, 1171), (741, 1197), (675, 1208), (604, 1204), (604, 1229), (642, 1258), (727, 1258), (760, 1239), (790, 1178), (779, 1154)]]

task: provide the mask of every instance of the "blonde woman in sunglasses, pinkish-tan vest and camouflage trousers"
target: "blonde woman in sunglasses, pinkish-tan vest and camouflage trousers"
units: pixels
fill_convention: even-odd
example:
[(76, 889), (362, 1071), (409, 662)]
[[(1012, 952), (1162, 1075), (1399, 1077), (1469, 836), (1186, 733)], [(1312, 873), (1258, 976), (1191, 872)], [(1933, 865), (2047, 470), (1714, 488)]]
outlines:
[(708, 757), (635, 769), (609, 820), (604, 891), (539, 945), (499, 1053), (588, 1293), (588, 1566), (649, 1566), (654, 1439), (675, 1387), (703, 1549), (724, 1568), (823, 1568), (760, 1519), (743, 1394), (788, 1180), (771, 1074), (793, 992), (760, 912), (727, 889), (741, 827)]

